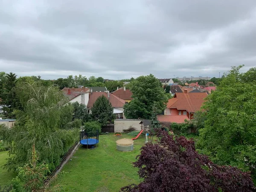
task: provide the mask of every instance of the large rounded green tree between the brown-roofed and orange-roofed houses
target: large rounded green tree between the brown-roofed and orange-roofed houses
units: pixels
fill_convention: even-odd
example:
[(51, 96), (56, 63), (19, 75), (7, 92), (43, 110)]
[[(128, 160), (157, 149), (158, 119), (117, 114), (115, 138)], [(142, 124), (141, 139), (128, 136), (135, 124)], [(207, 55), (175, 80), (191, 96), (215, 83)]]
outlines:
[(149, 119), (153, 111), (153, 105), (156, 105), (157, 113), (161, 113), (168, 102), (168, 95), (161, 86), (160, 81), (152, 74), (140, 76), (134, 80), (131, 89), (134, 99), (124, 106), (126, 118)]

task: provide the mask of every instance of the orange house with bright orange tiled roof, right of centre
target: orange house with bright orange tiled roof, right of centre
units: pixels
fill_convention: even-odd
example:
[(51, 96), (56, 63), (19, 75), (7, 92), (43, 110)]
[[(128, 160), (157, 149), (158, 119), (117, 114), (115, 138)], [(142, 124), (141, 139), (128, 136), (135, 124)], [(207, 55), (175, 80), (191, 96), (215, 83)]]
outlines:
[(172, 99), (169, 99), (164, 114), (186, 115), (192, 119), (193, 114), (200, 110), (207, 95), (207, 93), (188, 93), (185, 89), (184, 93), (176, 93)]

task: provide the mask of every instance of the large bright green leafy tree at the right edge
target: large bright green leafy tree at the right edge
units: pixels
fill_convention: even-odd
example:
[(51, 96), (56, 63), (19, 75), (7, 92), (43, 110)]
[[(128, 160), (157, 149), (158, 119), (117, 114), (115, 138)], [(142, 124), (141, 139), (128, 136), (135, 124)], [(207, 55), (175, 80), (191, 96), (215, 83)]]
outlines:
[[(232, 67), (204, 105), (206, 120), (198, 147), (213, 162), (256, 173), (256, 84)], [(241, 78), (242, 77), (242, 78)]]

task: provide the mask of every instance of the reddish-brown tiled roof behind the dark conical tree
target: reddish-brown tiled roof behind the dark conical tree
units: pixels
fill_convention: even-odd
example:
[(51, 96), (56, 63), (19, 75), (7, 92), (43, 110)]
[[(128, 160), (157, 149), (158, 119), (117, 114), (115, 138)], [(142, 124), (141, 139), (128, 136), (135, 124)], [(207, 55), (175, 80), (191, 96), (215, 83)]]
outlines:
[[(111, 103), (113, 108), (123, 108), (125, 105), (125, 100), (119, 99), (117, 96), (114, 96), (112, 93), (109, 93), (109, 102)], [(96, 100), (99, 98), (99, 96), (104, 95), (106, 98), (108, 98), (108, 93), (106, 92), (93, 92), (90, 93), (89, 102), (87, 104), (87, 108), (91, 108), (93, 104), (96, 102)]]

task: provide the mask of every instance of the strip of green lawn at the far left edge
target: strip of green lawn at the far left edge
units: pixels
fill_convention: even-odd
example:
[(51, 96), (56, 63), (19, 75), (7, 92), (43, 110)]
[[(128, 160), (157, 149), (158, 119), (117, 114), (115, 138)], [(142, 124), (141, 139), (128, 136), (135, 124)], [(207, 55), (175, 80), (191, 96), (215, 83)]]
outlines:
[(3, 165), (6, 163), (6, 158), (9, 157), (8, 151), (0, 152), (0, 186), (6, 185), (8, 180), (11, 180), (15, 177), (15, 173), (7, 172), (6, 169), (3, 169)]

